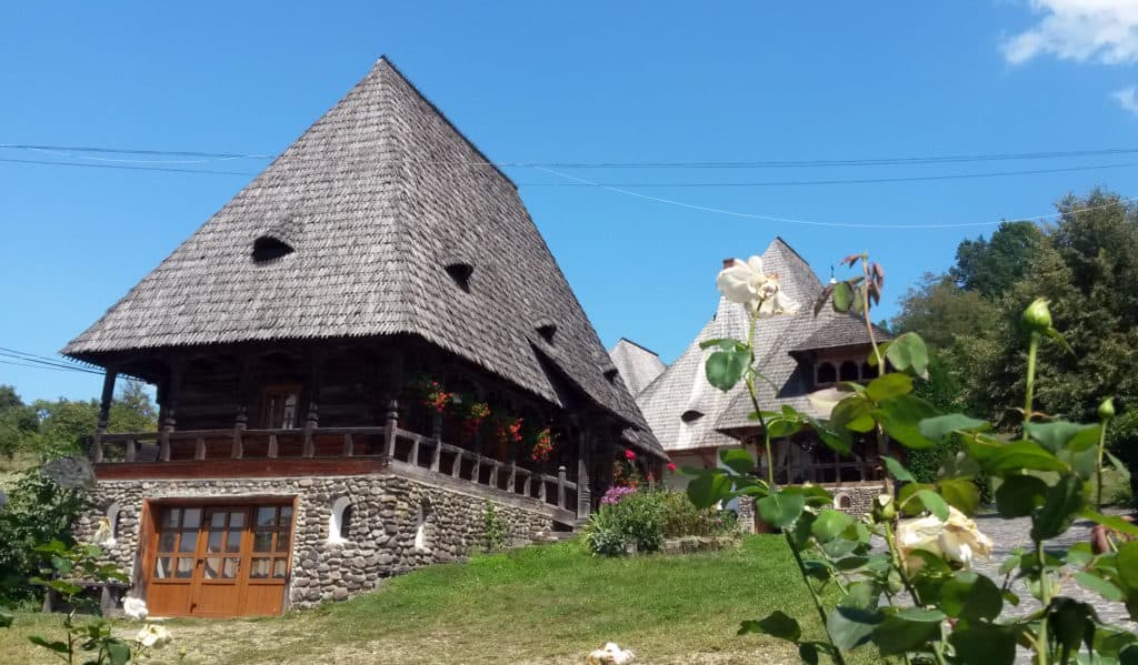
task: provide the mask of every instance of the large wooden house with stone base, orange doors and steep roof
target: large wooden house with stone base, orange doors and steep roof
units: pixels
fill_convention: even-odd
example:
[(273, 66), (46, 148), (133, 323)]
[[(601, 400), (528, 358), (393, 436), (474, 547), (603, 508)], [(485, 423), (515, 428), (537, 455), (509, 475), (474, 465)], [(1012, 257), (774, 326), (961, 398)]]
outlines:
[[(159, 616), (571, 530), (666, 460), (514, 183), (387, 59), (63, 352), (106, 368), (81, 534)], [(116, 376), (158, 432), (105, 432)]]

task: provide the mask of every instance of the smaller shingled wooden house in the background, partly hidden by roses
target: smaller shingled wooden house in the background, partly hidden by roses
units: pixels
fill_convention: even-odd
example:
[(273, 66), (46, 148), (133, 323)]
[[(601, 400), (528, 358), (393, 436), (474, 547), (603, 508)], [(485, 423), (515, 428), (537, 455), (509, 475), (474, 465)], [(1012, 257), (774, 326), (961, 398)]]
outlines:
[[(757, 367), (770, 381), (757, 382), (760, 404), (769, 410), (790, 405), (814, 416), (828, 416), (816, 413), (807, 394), (838, 382), (866, 382), (877, 375), (866, 363), (872, 347), (865, 322), (828, 307), (815, 316), (813, 304), (822, 292), (822, 282), (781, 238), (767, 247), (762, 264), (767, 272), (778, 274), (783, 293), (797, 301), (800, 310), (758, 323)], [(744, 308), (720, 298), (711, 321), (679, 358), (636, 393), (653, 434), (677, 465), (714, 468), (720, 464), (721, 450), (761, 442), (761, 429), (749, 417), (754, 408), (745, 386), (740, 383), (723, 392), (708, 383), (703, 367), (711, 351), (700, 348), (707, 340), (743, 340), (747, 334)], [(880, 329), (874, 334), (879, 341), (889, 339)], [(615, 361), (622, 356), (615, 356)], [(642, 358), (641, 364), (650, 365), (650, 359)], [(807, 430), (793, 439), (775, 441), (774, 459), (760, 459), (756, 473), (765, 477), (766, 465), (774, 464), (778, 482), (827, 485), (838, 507), (864, 513), (883, 488), (881, 452), (876, 443), (859, 442), (851, 456), (838, 457)], [(677, 475), (670, 482), (683, 487), (687, 480)], [(737, 508), (749, 512), (747, 506)]]

